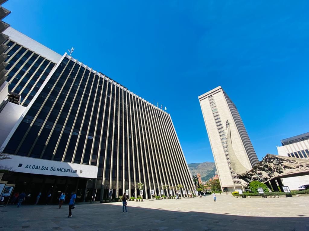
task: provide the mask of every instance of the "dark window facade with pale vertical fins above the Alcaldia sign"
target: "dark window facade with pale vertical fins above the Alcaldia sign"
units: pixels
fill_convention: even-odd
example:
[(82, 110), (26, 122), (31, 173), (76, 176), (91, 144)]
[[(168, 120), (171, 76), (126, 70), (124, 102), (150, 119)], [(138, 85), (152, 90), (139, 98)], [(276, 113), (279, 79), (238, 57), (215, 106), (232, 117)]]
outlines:
[(98, 165), (99, 179), (191, 185), (170, 117), (67, 58), (4, 151)]

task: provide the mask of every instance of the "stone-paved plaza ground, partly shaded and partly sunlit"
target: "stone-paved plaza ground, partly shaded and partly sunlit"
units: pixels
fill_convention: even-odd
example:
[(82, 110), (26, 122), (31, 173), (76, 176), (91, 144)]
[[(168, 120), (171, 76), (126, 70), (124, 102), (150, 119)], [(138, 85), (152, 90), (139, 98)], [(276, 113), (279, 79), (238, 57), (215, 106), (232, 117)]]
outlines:
[(309, 231), (309, 197), (233, 198), (217, 195), (181, 200), (81, 203), (67, 218), (68, 205), (24, 205), (0, 208), (2, 230), (294, 230)]

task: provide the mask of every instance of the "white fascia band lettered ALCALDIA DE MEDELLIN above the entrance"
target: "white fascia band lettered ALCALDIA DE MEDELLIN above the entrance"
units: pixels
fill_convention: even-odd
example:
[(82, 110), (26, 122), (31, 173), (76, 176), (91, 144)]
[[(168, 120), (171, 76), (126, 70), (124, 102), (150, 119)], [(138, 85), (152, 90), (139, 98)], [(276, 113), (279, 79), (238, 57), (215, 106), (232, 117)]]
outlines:
[(84, 178), (97, 178), (98, 175), (98, 167), (93, 165), (73, 164), (16, 155), (7, 156), (11, 159), (1, 160), (1, 165), (11, 168), (12, 172)]

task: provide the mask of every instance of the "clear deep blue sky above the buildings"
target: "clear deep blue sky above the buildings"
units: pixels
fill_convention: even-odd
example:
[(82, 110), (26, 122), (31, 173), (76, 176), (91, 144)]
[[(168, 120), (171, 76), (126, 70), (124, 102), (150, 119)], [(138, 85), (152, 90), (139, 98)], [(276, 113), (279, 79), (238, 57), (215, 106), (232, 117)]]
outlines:
[(188, 163), (213, 161), (198, 95), (221, 85), (258, 158), (309, 132), (308, 1), (18, 1), (4, 21), (171, 114)]

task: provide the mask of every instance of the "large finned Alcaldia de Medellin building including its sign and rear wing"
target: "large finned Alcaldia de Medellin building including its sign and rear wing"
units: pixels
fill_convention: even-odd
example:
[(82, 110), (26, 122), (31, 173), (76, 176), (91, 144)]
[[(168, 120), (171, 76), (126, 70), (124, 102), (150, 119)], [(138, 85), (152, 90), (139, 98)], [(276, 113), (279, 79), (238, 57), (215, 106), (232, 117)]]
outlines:
[[(74, 190), (79, 201), (127, 192), (195, 192), (170, 114), (66, 53), (59, 55), (9, 28), (8, 102), (0, 113), (2, 164), (18, 190)], [(17, 100), (18, 101), (18, 100)], [(7, 126), (3, 126), (5, 121)], [(26, 183), (25, 183), (26, 182)], [(152, 193), (153, 192), (153, 193)], [(33, 198), (32, 198), (33, 199)], [(35, 198), (34, 198), (35, 199)]]

